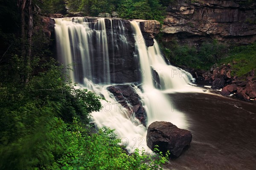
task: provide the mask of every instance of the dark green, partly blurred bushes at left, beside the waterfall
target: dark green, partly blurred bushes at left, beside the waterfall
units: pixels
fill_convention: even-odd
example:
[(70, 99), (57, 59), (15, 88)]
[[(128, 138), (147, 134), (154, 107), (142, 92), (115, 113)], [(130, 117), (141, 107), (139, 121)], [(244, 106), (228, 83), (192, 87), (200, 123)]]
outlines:
[[(10, 61), (18, 61), (17, 55)], [(74, 116), (88, 123), (89, 113), (101, 109), (101, 97), (75, 89), (63, 68), (51, 61), (25, 86), (13, 77), (0, 82), (0, 169), (32, 170), (51, 163), (67, 146), (64, 121)]]

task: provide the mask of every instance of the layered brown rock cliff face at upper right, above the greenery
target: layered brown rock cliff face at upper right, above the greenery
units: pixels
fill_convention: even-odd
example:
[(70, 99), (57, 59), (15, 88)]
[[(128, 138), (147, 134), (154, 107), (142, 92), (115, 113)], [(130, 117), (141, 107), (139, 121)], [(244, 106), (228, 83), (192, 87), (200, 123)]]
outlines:
[(177, 0), (167, 8), (163, 41), (200, 45), (207, 39), (227, 44), (256, 40), (253, 0)]

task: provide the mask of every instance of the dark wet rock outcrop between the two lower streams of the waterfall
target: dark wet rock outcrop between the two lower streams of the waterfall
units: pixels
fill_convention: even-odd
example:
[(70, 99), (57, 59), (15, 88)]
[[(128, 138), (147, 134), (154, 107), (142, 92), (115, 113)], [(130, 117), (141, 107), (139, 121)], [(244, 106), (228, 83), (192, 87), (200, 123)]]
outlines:
[(134, 90), (134, 86), (116, 85), (109, 86), (107, 89), (114, 95), (116, 101), (128, 110), (128, 118), (135, 114), (135, 117), (145, 126), (146, 111), (140, 101), (140, 96)]

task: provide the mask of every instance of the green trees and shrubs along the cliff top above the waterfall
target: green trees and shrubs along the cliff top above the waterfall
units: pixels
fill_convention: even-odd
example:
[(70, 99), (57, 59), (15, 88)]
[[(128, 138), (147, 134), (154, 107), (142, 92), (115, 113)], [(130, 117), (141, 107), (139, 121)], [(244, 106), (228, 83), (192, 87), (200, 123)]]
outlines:
[(165, 9), (172, 0), (45, 0), (41, 5), (45, 13), (65, 14), (84, 12), (87, 16), (97, 16), (101, 12), (115, 11), (124, 19), (158, 20), (163, 23)]

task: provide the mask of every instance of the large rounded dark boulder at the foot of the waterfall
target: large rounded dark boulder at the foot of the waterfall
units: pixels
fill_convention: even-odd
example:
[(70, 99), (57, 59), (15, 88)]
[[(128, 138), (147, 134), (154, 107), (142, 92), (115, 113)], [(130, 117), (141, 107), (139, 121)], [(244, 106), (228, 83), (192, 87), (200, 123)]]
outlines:
[(166, 121), (155, 121), (148, 126), (147, 145), (151, 150), (158, 145), (163, 153), (170, 151), (171, 156), (180, 156), (183, 149), (192, 141), (189, 130), (183, 130)]

